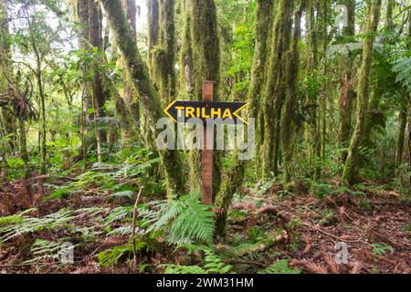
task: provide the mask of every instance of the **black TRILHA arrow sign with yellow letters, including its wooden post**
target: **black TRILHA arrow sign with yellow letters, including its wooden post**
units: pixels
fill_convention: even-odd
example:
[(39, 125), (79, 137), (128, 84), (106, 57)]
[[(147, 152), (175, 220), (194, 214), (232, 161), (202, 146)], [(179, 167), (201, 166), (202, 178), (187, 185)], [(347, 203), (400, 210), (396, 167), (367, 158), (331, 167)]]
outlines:
[[(236, 124), (242, 122), (248, 124), (239, 112), (248, 106), (247, 102), (214, 102), (214, 82), (203, 83), (203, 101), (176, 100), (165, 108), (165, 114), (175, 122), (191, 118), (203, 120), (219, 119), (216, 123)], [(203, 132), (203, 150), (201, 151), (201, 201), (205, 204), (213, 203), (213, 139), (207, 140), (213, 135), (213, 127), (205, 128)]]

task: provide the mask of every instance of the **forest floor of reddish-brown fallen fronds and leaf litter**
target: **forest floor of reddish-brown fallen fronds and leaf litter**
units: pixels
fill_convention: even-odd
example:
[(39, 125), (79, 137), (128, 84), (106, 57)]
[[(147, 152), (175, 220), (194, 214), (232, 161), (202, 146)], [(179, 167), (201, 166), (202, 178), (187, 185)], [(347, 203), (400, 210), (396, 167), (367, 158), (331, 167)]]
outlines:
[[(2, 217), (31, 207), (37, 209), (27, 211), (26, 215), (33, 218), (47, 218), (67, 209), (78, 210), (80, 215), (69, 217), (69, 221), (58, 228), (56, 225), (49, 228), (50, 221), (47, 221), (44, 228), (40, 223), (39, 228), (30, 232), (20, 229), (20, 235), (5, 240), (0, 245), (0, 274), (132, 272), (131, 251), (119, 255), (117, 263), (111, 266), (101, 265), (99, 260), (101, 252), (128, 245), (130, 238), (129, 235), (109, 235), (100, 221), (103, 218), (107, 222), (110, 214), (107, 210), (118, 205), (107, 200), (110, 193), (101, 192), (95, 186), (65, 199), (43, 200), (50, 193), (49, 183), (43, 183), (47, 180), (50, 179), (37, 176), (31, 181), (0, 186), (0, 227)], [(53, 183), (62, 185), (72, 180), (59, 178)], [(244, 188), (235, 196), (228, 217), (227, 238), (223, 244), (215, 243), (216, 250), (219, 245), (261, 242), (249, 250), (237, 248), (237, 256), (227, 257), (227, 264), (232, 265), (235, 272), (256, 273), (286, 259), (292, 270), (302, 273), (411, 273), (411, 202), (401, 199), (395, 191), (365, 190), (361, 196), (341, 193), (319, 199), (307, 194), (281, 196), (279, 190), (278, 185), (270, 186), (265, 192)], [(92, 211), (96, 207), (100, 211)], [(114, 227), (121, 227), (121, 223), (111, 223), (111, 228)], [(275, 242), (263, 241), (278, 230), (281, 232)], [(84, 235), (90, 238), (85, 239)], [(41, 251), (35, 253), (37, 259), (31, 261), (35, 257), (31, 248), (36, 240), (53, 242), (65, 236), (78, 240), (74, 264), (62, 265), (54, 255), (41, 257)], [(337, 243), (348, 247), (346, 265), (335, 261), (335, 254), (341, 250), (336, 249)], [(183, 251), (174, 252), (160, 242), (150, 251), (142, 251), (138, 261), (140, 272), (162, 273), (162, 264), (190, 265), (187, 262), (195, 264), (197, 259), (193, 256), (187, 259)]]

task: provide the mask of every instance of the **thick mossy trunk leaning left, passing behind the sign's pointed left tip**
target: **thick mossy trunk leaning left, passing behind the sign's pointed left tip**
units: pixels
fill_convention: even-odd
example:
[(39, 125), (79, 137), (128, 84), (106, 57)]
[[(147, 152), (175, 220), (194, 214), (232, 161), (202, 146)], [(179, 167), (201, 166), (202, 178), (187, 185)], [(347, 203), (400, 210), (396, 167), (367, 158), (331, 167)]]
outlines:
[[(121, 9), (120, 0), (101, 0), (116, 38), (117, 46), (124, 59), (124, 65), (132, 79), (132, 86), (138, 93), (149, 125), (156, 135), (162, 130), (155, 129), (157, 120), (164, 117), (158, 92), (153, 87), (147, 68), (142, 62), (137, 43), (127, 18)], [(184, 192), (184, 167), (178, 151), (159, 151), (165, 170), (169, 194)]]

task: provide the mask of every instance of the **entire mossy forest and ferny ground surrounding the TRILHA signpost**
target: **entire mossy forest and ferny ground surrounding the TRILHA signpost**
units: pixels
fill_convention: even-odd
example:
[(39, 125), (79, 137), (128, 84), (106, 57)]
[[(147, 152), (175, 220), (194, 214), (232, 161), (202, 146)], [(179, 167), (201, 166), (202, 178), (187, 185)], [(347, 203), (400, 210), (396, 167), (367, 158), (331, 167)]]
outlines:
[[(410, 273), (410, 48), (407, 0), (0, 0), (0, 271)], [(211, 206), (155, 142), (205, 80), (256, 120)]]

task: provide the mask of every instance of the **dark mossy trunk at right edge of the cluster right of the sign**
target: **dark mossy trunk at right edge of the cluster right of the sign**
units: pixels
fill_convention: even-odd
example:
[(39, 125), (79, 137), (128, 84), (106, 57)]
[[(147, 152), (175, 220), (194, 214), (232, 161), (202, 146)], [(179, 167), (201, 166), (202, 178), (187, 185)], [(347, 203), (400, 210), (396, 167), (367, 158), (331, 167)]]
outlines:
[(304, 10), (305, 1), (300, 0), (298, 9), (294, 13), (294, 31), (292, 37), (292, 48), (287, 57), (287, 97), (284, 113), (281, 120), (281, 141), (284, 165), (284, 181), (290, 183), (293, 166), (293, 140), (295, 135), (295, 113), (297, 112), (296, 80), (299, 72), (300, 53), (300, 23)]

